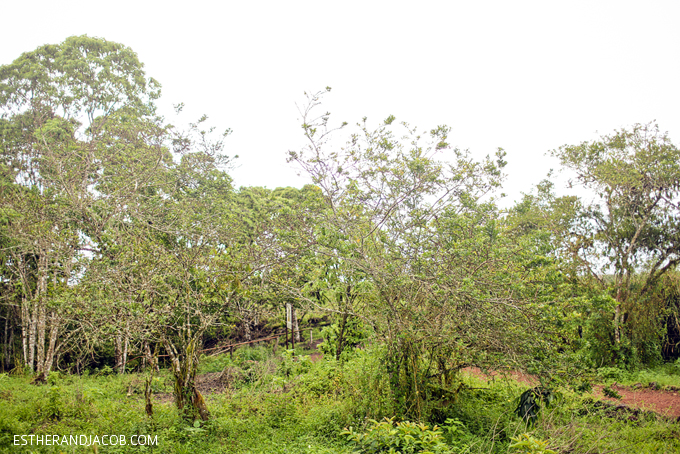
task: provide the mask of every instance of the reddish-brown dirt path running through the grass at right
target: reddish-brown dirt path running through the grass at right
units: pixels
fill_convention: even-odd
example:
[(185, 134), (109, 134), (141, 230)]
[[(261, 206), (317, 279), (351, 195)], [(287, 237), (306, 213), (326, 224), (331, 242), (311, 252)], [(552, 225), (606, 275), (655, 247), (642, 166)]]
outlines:
[[(489, 378), (489, 375), (484, 374), (476, 367), (465, 368), (463, 369), (463, 372), (484, 380)], [(511, 372), (508, 374), (493, 372), (491, 373), (491, 376), (506, 376), (528, 386), (538, 385), (538, 380), (536, 380), (535, 377), (521, 372)], [(611, 388), (621, 395), (620, 399), (615, 399), (612, 397), (605, 397), (602, 391), (603, 388), (603, 385), (593, 386), (594, 396), (613, 404), (653, 411), (654, 413), (666, 417), (680, 418), (680, 391), (653, 390), (649, 388), (632, 389), (627, 386), (615, 384), (612, 385)]]

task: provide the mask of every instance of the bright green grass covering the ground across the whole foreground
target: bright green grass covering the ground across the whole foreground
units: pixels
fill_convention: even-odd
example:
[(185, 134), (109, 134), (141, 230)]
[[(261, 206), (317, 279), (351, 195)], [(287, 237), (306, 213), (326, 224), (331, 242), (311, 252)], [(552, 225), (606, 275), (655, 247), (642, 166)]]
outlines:
[[(94, 452), (91, 447), (17, 447), (12, 445), (15, 434), (141, 434), (156, 436), (159, 446), (100, 446), (98, 452), (349, 454), (356, 448), (341, 435), (343, 428), (360, 434), (373, 424), (370, 419), (394, 416), (375, 352), (358, 352), (345, 364), (312, 363), (302, 347), (277, 353), (257, 346), (237, 350), (233, 358), (204, 358), (202, 374), (225, 368), (232, 374), (224, 392), (205, 396), (212, 419), (196, 424), (178, 417), (168, 371), (153, 382), (152, 418), (144, 412), (143, 374), (54, 374), (42, 386), (31, 385), (29, 376), (0, 375), (0, 452)], [(641, 381), (648, 374), (663, 383), (664, 374), (675, 378), (672, 372), (643, 371), (634, 377)], [(423, 421), (430, 428), (442, 427), (450, 452), (516, 452), (509, 450), (511, 439), (523, 433), (560, 453), (680, 452), (680, 426), (652, 414), (612, 414), (598, 408), (591, 395), (562, 389), (554, 405), (528, 427), (513, 413), (526, 385), (461, 379), (465, 386), (454, 398), (428, 403), (428, 420)]]

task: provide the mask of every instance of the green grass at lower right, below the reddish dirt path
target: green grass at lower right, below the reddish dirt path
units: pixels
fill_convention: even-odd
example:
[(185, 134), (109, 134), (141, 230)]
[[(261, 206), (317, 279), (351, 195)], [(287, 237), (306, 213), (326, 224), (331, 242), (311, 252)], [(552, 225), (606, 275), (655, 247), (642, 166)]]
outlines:
[[(473, 387), (485, 386), (475, 377), (466, 378), (466, 382)], [(468, 391), (455, 411), (478, 437), (472, 452), (506, 452), (509, 438), (520, 433), (547, 440), (549, 448), (558, 453), (680, 452), (680, 425), (666, 418), (651, 413), (612, 412), (597, 406), (592, 394), (559, 389), (551, 408), (543, 408), (536, 425), (529, 427), (508, 414), (527, 385), (497, 380), (486, 386), (490, 389)]]

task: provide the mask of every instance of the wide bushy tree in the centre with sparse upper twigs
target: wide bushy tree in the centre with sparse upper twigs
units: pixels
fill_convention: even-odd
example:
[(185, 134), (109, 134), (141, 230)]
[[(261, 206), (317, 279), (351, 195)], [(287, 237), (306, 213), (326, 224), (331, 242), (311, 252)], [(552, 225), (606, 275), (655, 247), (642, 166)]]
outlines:
[(361, 304), (337, 309), (373, 326), (395, 400), (420, 417), (432, 378), (450, 385), (465, 364), (542, 348), (524, 334), (541, 332), (532, 257), (505, 235), (490, 198), (504, 152), (475, 161), (449, 146), (449, 128), (420, 133), (392, 116), (376, 129), (364, 119), (334, 147), (329, 114), (313, 117), (320, 96), (301, 111), (308, 147), (290, 153), (326, 202), (314, 255), (334, 270), (336, 290), (361, 283)]

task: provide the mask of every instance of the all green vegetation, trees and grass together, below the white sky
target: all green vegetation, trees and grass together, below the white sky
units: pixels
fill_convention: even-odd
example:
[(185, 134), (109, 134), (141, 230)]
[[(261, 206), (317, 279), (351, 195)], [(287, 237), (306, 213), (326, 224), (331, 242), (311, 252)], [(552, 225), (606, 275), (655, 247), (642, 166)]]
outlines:
[(667, 135), (563, 146), (594, 202), (546, 180), (503, 210), (502, 149), (333, 128), (328, 91), (288, 156), (311, 184), (235, 188), (230, 131), (158, 115), (131, 49), (71, 37), (0, 67), (0, 449), (679, 450), (677, 423), (587, 392), (680, 385)]

